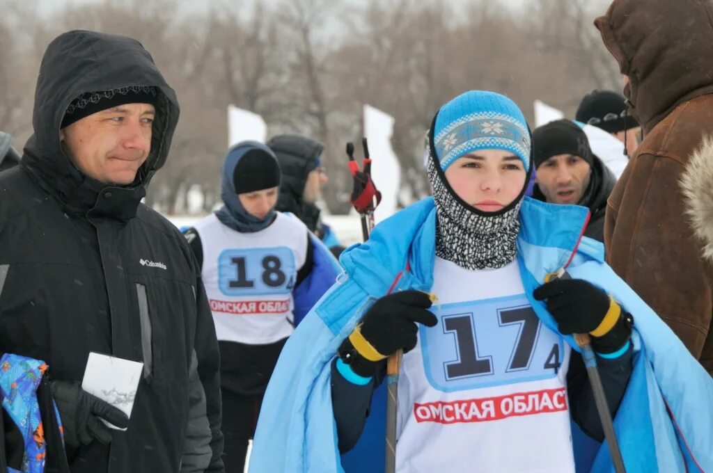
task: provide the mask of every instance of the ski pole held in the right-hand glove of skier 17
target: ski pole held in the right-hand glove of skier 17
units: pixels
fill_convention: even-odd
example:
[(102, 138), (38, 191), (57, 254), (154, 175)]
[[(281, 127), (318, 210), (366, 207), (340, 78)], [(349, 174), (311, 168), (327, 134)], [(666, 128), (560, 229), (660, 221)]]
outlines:
[[(545, 282), (554, 281), (555, 279), (571, 279), (571, 276), (567, 271), (565, 271), (564, 268), (560, 269), (556, 273), (550, 273), (545, 276)], [(604, 437), (607, 440), (607, 447), (609, 447), (609, 453), (612, 457), (614, 470), (616, 473), (626, 473), (622, 452), (619, 449), (619, 442), (617, 442), (617, 434), (614, 431), (612, 414), (609, 410), (609, 405), (607, 405), (604, 385), (602, 385), (602, 379), (599, 376), (599, 370), (597, 370), (597, 356), (592, 348), (589, 334), (575, 333), (574, 338), (578, 347), (582, 350), (582, 358), (584, 360), (585, 367), (587, 367), (589, 383), (592, 386), (594, 402), (597, 405), (597, 413), (599, 414), (599, 420), (602, 422), (602, 429), (604, 430)]]

